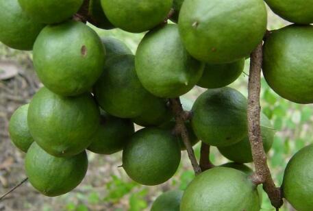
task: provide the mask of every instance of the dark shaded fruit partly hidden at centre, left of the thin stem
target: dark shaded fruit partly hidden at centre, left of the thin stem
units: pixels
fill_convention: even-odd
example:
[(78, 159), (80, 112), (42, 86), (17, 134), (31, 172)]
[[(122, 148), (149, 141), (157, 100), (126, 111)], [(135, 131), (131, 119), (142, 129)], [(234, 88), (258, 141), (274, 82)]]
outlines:
[(142, 127), (159, 126), (171, 121), (173, 118), (173, 112), (167, 105), (168, 100), (160, 98), (156, 101), (149, 101), (147, 103), (150, 104), (148, 108), (143, 111), (140, 116), (132, 119), (137, 125)]

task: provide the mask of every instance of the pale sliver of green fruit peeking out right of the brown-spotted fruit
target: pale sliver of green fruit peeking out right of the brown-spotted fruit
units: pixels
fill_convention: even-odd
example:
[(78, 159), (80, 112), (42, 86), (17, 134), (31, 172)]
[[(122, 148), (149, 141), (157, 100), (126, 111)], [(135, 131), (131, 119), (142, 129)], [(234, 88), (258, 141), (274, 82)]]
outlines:
[(106, 50), (105, 60), (110, 60), (115, 55), (133, 54), (129, 47), (121, 40), (111, 37), (101, 37), (101, 41)]

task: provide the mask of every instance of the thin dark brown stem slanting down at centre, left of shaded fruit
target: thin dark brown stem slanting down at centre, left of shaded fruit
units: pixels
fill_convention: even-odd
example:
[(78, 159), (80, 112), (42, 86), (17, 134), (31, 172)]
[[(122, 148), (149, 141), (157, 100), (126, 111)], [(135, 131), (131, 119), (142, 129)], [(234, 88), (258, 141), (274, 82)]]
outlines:
[(187, 112), (183, 110), (179, 98), (170, 99), (170, 103), (171, 109), (173, 110), (173, 113), (175, 115), (176, 121), (175, 131), (181, 135), (181, 139), (183, 140), (184, 145), (186, 146), (188, 157), (192, 164), (192, 168), (195, 171), (195, 175), (199, 175), (199, 173), (201, 173), (201, 168), (197, 162), (195, 152), (193, 151), (192, 146), (190, 144), (189, 134), (185, 125), (185, 121), (188, 119), (189, 115)]

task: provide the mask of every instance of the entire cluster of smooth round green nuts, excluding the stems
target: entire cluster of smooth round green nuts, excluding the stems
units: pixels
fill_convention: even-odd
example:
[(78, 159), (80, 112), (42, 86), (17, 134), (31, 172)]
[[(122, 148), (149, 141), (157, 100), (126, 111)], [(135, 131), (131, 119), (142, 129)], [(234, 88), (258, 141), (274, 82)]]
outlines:
[[(268, 6), (292, 25), (269, 32)], [(10, 137), (26, 153), (25, 171), (40, 193), (53, 197), (82, 182), (86, 151), (123, 151), (123, 169), (155, 186), (173, 177), (186, 149), (175, 133), (169, 99), (207, 88), (186, 121), (199, 140), (234, 163), (197, 175), (184, 193), (164, 193), (152, 210), (260, 210), (250, 179), (247, 99), (227, 87), (264, 39), (263, 74), (281, 97), (313, 103), (312, 0), (0, 0), (0, 41), (32, 50), (43, 86), (10, 120)], [(147, 32), (136, 54), (121, 41), (100, 38), (90, 25)], [(85, 11), (87, 10), (87, 11)], [(76, 18), (73, 18), (73, 17)], [(83, 18), (83, 19), (84, 19)], [(168, 18), (173, 23), (167, 23)], [(134, 123), (143, 128), (135, 132)], [(264, 150), (275, 130), (262, 114)], [(284, 197), (299, 211), (313, 209), (313, 145), (290, 160)]]

